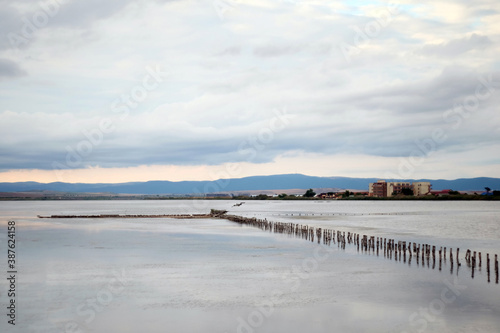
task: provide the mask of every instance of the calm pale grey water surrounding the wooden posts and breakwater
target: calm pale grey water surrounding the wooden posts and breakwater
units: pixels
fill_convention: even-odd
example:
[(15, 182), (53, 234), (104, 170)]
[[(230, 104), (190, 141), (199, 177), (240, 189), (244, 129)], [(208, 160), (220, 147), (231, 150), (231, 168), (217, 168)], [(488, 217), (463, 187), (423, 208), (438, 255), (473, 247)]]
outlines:
[[(500, 332), (500, 285), (225, 220), (38, 219), (228, 209), (341, 231), (500, 254), (500, 203), (1, 202), (17, 223), (15, 329), (4, 332)], [(0, 302), (7, 304), (7, 280)], [(7, 318), (7, 319), (6, 319)]]

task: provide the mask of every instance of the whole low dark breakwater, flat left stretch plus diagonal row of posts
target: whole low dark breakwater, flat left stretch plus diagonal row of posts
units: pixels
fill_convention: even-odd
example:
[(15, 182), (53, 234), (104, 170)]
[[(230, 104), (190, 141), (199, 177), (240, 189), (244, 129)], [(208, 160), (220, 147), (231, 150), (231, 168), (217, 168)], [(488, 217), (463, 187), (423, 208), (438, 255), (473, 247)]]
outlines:
[[(337, 244), (337, 247), (345, 249), (346, 246), (354, 246), (358, 252), (366, 254), (376, 254), (377, 256), (383, 254), (384, 258), (395, 261), (407, 263), (411, 265), (414, 260), (417, 266), (428, 267), (435, 269), (436, 267), (441, 271), (443, 264), (446, 265), (447, 257), (449, 257), (450, 273), (453, 274), (454, 266), (458, 273), (459, 268), (462, 266), (460, 262), (460, 248), (453, 251), (452, 248), (446, 246), (436, 246), (432, 244), (407, 242), (395, 240), (387, 237), (375, 237), (370, 235), (361, 235), (354, 232), (343, 232), (333, 229), (322, 229), (311, 227), (309, 225), (287, 222), (273, 222), (267, 219), (257, 219), (255, 217), (244, 217), (238, 215), (227, 214), (225, 210), (212, 209), (209, 214), (135, 214), (135, 215), (122, 215), (122, 214), (99, 214), (99, 215), (50, 215), (40, 216), (39, 218), (52, 218), (52, 219), (82, 219), (82, 218), (174, 218), (174, 219), (206, 219), (218, 218), (235, 222), (241, 225), (259, 228), (263, 231), (272, 233), (286, 234), (289, 236), (301, 238), (318, 244), (332, 246)], [(449, 254), (449, 256), (448, 256)], [(467, 249), (465, 252), (464, 262), (467, 267), (471, 269), (471, 277), (474, 278), (474, 273), (483, 268), (482, 253), (471, 251)], [(493, 256), (491, 257), (493, 261)], [(495, 275), (495, 283), (499, 282), (498, 273), (498, 255), (494, 255), (494, 261), (490, 265), (490, 254), (486, 253), (486, 272), (488, 283), (491, 282), (491, 276)]]

